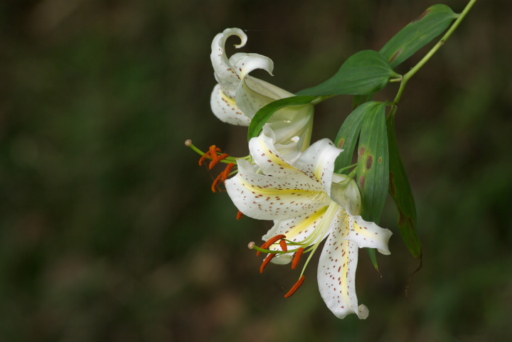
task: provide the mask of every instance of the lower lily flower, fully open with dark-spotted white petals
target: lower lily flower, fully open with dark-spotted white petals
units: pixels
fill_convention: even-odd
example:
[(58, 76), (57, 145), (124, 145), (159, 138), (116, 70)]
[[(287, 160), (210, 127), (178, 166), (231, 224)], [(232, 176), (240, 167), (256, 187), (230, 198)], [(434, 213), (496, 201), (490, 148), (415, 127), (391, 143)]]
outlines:
[(292, 262), (294, 269), (303, 253), (311, 252), (290, 296), (304, 282), (304, 269), (325, 239), (317, 272), (322, 298), (340, 319), (348, 314), (366, 319), (368, 308), (358, 306), (356, 296), (358, 248), (377, 248), (388, 255), (392, 233), (361, 218), (356, 182), (334, 173), (334, 161), (343, 150), (322, 139), (302, 153), (298, 139), (277, 144), (270, 127), (250, 140), (249, 149), (254, 162), (239, 159), (238, 174), (225, 186), (244, 215), (274, 220), (263, 236), (267, 242), (262, 247), (250, 244), (268, 253), (260, 271), (270, 262)]

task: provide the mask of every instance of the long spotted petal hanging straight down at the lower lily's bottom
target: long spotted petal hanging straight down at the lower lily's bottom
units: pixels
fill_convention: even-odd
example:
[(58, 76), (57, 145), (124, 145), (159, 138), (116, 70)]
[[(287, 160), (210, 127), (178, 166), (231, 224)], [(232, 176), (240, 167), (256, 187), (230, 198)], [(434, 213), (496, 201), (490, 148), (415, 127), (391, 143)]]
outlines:
[(346, 240), (349, 230), (343, 224), (345, 215), (343, 208), (336, 213), (337, 224), (327, 237), (317, 272), (321, 297), (340, 319), (348, 314), (359, 316), (356, 296), (358, 246)]

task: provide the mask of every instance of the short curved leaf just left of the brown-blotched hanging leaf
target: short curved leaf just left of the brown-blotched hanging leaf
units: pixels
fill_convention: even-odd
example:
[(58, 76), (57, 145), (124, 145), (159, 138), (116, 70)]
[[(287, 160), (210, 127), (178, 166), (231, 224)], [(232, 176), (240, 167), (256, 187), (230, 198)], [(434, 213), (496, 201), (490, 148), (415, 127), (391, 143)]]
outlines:
[[(343, 122), (338, 131), (338, 135), (336, 135), (336, 140), (334, 140), (334, 144), (338, 148), (343, 149), (343, 152), (336, 159), (335, 170), (342, 169), (351, 164), (353, 151), (356, 149), (357, 139), (364, 119), (367, 114), (380, 110), (381, 104), (382, 102), (366, 102), (354, 109), (345, 119), (345, 122)], [(345, 170), (342, 173), (347, 174), (349, 171)]]

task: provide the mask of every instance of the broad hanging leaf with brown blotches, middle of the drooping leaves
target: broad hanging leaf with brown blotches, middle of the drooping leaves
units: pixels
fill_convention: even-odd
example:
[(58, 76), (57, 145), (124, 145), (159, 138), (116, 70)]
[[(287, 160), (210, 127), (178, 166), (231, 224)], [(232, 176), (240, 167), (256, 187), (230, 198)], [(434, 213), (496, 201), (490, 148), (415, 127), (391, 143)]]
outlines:
[(361, 127), (356, 180), (363, 199), (361, 216), (378, 224), (389, 186), (388, 132), (382, 102), (366, 114)]

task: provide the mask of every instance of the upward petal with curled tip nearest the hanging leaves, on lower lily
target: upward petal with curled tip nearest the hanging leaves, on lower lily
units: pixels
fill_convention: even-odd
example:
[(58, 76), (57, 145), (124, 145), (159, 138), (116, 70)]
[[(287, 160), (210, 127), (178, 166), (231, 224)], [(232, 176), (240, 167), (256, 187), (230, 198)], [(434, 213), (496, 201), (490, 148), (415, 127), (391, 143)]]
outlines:
[(309, 146), (293, 166), (309, 178), (320, 181), (326, 193), (331, 196), (334, 161), (341, 152), (343, 150), (336, 148), (331, 140), (321, 139)]

